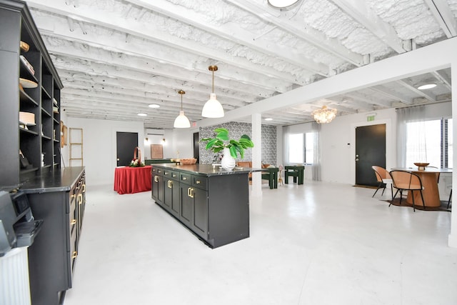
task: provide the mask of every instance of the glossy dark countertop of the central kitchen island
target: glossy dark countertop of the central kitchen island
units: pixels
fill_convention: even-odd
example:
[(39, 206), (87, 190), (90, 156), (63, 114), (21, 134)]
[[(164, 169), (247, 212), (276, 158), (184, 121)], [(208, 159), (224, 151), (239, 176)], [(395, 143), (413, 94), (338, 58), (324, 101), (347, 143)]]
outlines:
[(212, 166), (211, 164), (191, 164), (191, 165), (175, 165), (175, 164), (151, 164), (152, 167), (161, 167), (165, 169), (173, 169), (176, 171), (186, 171), (191, 174), (197, 174), (202, 176), (220, 176), (220, 175), (236, 175), (236, 174), (248, 174), (253, 171), (262, 171), (261, 169), (251, 169), (244, 167), (243, 169), (233, 169), (226, 171), (221, 169), (221, 166)]

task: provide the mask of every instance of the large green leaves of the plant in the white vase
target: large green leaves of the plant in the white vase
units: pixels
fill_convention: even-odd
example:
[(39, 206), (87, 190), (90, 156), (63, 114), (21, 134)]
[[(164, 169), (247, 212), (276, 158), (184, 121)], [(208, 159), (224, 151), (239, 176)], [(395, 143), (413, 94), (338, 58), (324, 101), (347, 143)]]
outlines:
[(251, 138), (246, 134), (243, 134), (241, 138), (236, 141), (229, 138), (229, 131), (225, 128), (216, 128), (214, 129), (214, 133), (216, 134), (214, 138), (201, 139), (201, 142), (207, 141), (206, 149), (214, 151), (215, 153), (227, 148), (230, 149), (230, 154), (233, 158), (236, 158), (237, 154), (239, 154), (241, 159), (243, 159), (244, 150), (254, 146)]

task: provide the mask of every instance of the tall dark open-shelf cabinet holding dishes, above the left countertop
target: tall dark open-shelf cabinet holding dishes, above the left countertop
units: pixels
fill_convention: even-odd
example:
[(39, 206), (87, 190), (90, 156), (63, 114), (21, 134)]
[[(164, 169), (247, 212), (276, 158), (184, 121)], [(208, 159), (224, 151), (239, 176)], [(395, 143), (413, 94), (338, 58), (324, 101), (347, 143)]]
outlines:
[[(63, 85), (24, 1), (0, 0), (0, 29), (0, 186), (16, 187), (60, 168)], [(20, 111), (35, 124), (19, 124)]]

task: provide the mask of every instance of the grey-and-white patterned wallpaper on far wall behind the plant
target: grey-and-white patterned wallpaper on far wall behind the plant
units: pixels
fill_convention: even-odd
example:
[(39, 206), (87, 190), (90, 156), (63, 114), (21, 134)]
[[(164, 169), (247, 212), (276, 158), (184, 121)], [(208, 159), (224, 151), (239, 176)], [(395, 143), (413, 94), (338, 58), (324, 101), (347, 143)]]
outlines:
[[(225, 128), (229, 130), (229, 136), (232, 139), (240, 139), (243, 134), (247, 134), (249, 137), (252, 137), (251, 124), (248, 123), (238, 123), (238, 122), (228, 122), (224, 124), (201, 127), (199, 129), (199, 138), (209, 138), (214, 136), (214, 129), (216, 128)], [(271, 125), (262, 125), (262, 162), (266, 164), (275, 164), (276, 165), (276, 126)], [(254, 145), (256, 145), (254, 143)], [(216, 156), (214, 152), (207, 151), (205, 149), (205, 144), (200, 143), (200, 164), (212, 164), (220, 163), (220, 158), (222, 154)], [(240, 161), (241, 159), (236, 159)], [(252, 150), (246, 149), (244, 151), (245, 161), (252, 160)]]

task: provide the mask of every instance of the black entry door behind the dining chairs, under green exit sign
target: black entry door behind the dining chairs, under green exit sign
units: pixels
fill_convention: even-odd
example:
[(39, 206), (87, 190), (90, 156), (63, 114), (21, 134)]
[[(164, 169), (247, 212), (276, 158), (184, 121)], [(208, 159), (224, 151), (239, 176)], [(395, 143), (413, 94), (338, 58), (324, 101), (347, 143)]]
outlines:
[(356, 128), (356, 184), (378, 185), (373, 165), (386, 168), (386, 124)]

